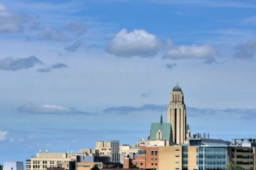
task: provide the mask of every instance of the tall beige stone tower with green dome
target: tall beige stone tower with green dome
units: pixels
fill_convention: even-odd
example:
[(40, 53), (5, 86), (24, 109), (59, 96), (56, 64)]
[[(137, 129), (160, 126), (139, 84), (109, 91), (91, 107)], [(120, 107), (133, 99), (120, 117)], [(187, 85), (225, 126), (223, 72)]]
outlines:
[(187, 111), (179, 85), (175, 86), (171, 92), (167, 122), (172, 124), (173, 143), (179, 145), (186, 143)]

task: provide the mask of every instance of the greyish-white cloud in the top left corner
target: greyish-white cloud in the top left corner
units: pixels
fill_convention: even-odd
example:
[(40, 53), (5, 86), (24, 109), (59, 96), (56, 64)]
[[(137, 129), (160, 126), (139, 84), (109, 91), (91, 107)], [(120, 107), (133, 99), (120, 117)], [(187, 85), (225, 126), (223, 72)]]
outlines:
[(28, 17), (23, 13), (15, 13), (0, 3), (0, 33), (16, 33), (23, 31)]

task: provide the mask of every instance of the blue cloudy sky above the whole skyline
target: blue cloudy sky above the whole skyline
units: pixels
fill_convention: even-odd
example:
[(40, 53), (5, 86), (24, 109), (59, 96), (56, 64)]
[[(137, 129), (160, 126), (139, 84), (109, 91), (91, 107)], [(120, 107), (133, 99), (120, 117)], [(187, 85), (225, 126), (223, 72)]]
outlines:
[(0, 164), (135, 144), (179, 83), (191, 133), (255, 137), (256, 1), (0, 1)]

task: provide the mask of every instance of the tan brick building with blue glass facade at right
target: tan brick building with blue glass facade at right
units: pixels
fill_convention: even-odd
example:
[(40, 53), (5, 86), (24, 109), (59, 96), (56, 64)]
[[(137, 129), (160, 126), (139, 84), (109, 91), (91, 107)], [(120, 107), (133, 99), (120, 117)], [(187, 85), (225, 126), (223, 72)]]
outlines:
[(196, 138), (182, 146), (159, 146), (159, 169), (225, 170), (228, 144), (220, 139)]

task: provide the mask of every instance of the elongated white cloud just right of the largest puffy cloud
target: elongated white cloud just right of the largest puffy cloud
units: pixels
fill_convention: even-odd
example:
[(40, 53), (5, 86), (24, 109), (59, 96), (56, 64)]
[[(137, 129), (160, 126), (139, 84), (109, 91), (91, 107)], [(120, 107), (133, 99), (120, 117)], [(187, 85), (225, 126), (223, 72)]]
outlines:
[(212, 45), (182, 45), (176, 49), (171, 49), (163, 58), (212, 58), (218, 55), (218, 51)]

